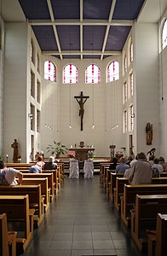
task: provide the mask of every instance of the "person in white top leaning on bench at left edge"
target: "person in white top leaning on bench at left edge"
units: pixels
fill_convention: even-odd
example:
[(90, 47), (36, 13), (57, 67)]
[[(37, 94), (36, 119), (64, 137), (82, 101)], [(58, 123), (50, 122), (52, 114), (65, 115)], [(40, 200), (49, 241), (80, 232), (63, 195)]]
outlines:
[[(18, 181), (15, 177), (18, 177)], [(13, 168), (7, 168), (3, 160), (0, 160), (0, 185), (20, 185), (23, 174)]]

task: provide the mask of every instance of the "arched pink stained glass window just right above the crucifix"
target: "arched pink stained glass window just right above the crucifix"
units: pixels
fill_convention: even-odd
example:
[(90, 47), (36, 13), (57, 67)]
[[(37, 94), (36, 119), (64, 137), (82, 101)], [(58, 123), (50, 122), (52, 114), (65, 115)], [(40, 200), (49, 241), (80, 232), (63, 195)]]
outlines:
[(95, 64), (90, 64), (85, 70), (85, 83), (98, 84), (101, 83), (101, 69)]

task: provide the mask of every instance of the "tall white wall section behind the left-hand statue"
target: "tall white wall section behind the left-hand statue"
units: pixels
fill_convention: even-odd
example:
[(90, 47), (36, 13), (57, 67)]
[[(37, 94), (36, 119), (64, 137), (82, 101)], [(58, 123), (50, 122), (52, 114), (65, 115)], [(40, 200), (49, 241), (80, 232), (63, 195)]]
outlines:
[(20, 154), (26, 155), (27, 24), (5, 24), (3, 155), (13, 158), (16, 138)]

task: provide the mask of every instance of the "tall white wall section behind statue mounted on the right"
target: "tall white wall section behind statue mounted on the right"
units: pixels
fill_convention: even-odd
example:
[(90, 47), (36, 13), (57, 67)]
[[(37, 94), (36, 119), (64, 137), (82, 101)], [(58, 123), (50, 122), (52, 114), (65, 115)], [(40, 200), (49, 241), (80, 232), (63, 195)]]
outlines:
[[(157, 148), (159, 154), (158, 25), (135, 24), (137, 151)], [(147, 145), (146, 125), (153, 124), (153, 144)]]

